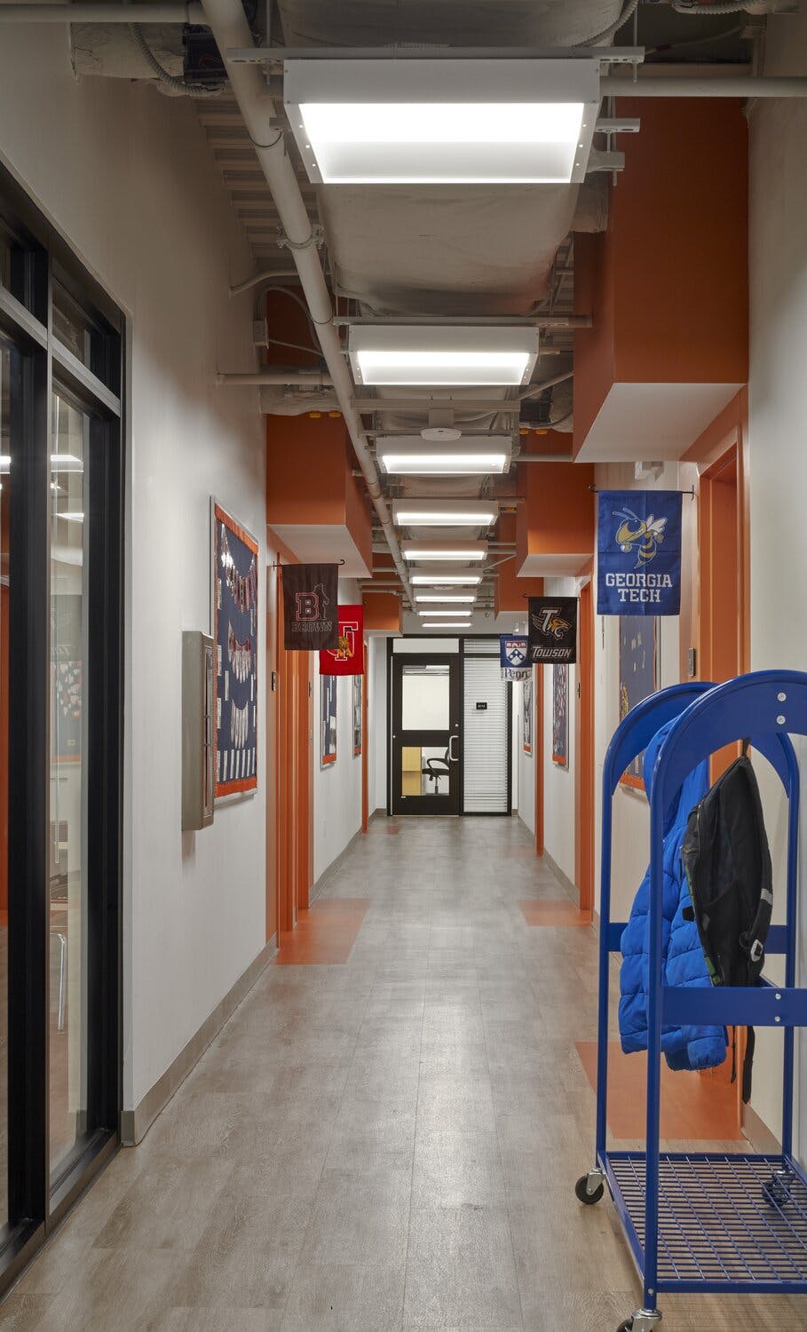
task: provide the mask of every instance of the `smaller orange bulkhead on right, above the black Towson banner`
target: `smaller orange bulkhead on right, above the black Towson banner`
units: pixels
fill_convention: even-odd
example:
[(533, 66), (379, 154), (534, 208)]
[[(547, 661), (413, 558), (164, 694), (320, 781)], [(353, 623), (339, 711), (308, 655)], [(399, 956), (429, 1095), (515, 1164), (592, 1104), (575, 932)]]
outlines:
[(519, 569), (527, 555), (594, 551), (593, 464), (533, 462), (525, 478), (523, 503), (515, 522)]

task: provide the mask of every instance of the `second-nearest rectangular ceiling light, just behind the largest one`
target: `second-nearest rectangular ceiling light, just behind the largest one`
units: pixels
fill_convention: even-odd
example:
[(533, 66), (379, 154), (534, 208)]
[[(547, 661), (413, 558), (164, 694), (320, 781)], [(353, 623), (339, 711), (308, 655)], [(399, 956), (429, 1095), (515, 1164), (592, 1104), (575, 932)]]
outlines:
[(352, 324), (348, 352), (357, 385), (517, 388), (530, 382), (538, 329), (529, 324)]

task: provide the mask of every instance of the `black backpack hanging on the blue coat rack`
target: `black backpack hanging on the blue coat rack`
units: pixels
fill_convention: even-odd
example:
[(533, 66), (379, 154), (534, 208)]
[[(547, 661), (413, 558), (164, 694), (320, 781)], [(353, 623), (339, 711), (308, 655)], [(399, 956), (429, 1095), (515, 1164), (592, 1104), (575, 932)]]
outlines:
[[(751, 761), (728, 767), (691, 811), (680, 858), (712, 986), (755, 986), (774, 906), (771, 854)], [(754, 1028), (748, 1027), (743, 1102), (751, 1095)]]

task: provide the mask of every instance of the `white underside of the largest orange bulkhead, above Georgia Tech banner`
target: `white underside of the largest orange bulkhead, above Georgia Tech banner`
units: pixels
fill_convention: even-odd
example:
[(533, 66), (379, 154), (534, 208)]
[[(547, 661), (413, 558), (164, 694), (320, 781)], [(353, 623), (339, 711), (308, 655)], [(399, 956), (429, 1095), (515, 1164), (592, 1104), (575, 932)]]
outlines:
[(680, 458), (740, 384), (614, 384), (575, 462)]

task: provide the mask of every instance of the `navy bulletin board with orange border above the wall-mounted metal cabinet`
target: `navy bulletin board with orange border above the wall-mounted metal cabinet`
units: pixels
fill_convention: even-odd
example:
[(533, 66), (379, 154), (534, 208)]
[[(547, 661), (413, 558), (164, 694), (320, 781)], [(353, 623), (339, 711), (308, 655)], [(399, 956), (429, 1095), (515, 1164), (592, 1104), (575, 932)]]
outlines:
[(213, 501), (216, 797), (258, 785), (258, 543)]

